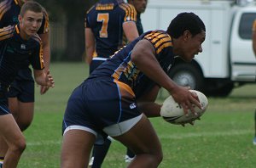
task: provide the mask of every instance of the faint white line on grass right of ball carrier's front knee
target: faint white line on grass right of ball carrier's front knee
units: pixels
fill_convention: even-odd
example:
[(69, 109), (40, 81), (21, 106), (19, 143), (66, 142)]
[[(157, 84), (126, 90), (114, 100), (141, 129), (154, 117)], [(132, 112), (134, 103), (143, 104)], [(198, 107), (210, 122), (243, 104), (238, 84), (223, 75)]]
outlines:
[(223, 137), (223, 136), (237, 136), (237, 135), (244, 135), (244, 134), (251, 134), (253, 136), (253, 131), (248, 130), (232, 130), (229, 132), (196, 132), (196, 133), (173, 133), (170, 134), (162, 134), (159, 135), (160, 138), (169, 138), (169, 139), (183, 139), (188, 137)]

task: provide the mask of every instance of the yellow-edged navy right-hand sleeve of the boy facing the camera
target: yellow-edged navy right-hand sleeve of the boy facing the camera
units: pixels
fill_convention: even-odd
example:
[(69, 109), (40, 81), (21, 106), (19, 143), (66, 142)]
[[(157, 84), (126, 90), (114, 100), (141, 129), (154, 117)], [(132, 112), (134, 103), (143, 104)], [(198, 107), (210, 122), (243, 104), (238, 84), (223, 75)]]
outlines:
[(32, 68), (35, 70), (43, 70), (44, 69), (43, 44), (39, 38), (36, 40), (36, 42), (37, 42), (37, 45), (34, 49), (32, 56), (30, 57), (30, 64), (32, 64)]

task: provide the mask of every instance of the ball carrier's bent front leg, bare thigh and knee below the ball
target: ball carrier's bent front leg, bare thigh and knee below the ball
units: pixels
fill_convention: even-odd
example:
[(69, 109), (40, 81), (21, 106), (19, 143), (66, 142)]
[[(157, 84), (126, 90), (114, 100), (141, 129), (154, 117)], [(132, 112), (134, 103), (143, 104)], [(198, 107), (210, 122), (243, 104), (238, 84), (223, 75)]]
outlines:
[[(123, 126), (132, 126), (129, 123), (126, 124)], [(160, 140), (145, 115), (128, 132), (113, 138), (124, 143), (136, 154), (128, 167), (155, 168), (160, 164), (163, 157)]]

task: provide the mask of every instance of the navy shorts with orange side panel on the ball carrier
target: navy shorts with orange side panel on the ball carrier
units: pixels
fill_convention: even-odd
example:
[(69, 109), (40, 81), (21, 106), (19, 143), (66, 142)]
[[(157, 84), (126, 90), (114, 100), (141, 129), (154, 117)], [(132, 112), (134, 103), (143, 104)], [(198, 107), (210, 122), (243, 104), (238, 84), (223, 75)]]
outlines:
[(104, 128), (126, 120), (136, 118), (136, 123), (140, 115), (131, 87), (113, 79), (90, 79), (75, 88), (68, 99), (62, 133), (72, 127), (102, 133)]

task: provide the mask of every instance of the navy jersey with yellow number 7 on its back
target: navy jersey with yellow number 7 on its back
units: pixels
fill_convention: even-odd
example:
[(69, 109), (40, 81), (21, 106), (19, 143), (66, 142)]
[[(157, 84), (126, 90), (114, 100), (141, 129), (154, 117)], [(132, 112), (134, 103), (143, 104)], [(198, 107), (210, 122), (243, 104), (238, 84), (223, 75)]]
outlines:
[(96, 55), (109, 58), (122, 48), (124, 34), (122, 25), (126, 21), (136, 20), (136, 9), (123, 1), (100, 0), (90, 8), (84, 25), (93, 31), (96, 39)]

